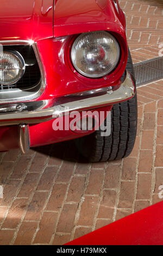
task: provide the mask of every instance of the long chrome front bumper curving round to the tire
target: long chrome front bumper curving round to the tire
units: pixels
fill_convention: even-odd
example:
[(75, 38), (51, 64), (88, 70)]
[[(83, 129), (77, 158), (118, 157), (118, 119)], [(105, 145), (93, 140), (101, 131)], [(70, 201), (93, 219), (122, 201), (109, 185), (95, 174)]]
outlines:
[[(128, 100), (135, 94), (130, 73), (117, 90), (95, 90), (95, 93), (71, 94), (52, 100), (23, 102), (0, 106), (0, 126), (42, 123), (71, 111), (82, 111)], [(92, 92), (92, 91), (91, 91)]]

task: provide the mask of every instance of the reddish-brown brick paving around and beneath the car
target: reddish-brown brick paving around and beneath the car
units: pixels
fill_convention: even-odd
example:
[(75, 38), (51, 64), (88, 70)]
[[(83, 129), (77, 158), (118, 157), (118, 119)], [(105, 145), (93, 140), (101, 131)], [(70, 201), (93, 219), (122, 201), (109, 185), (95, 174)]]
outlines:
[[(134, 63), (159, 56), (162, 1), (121, 1)], [(162, 51), (163, 53), (163, 51)], [(62, 245), (159, 202), (163, 81), (137, 89), (136, 143), (124, 160), (87, 164), (73, 142), (1, 154), (0, 244)], [(66, 150), (65, 150), (66, 149)]]

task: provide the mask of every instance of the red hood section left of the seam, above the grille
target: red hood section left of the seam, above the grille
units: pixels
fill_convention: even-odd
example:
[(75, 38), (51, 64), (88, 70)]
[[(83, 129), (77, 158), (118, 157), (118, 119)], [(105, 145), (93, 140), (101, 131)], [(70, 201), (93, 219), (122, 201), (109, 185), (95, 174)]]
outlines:
[(53, 36), (53, 0), (1, 0), (0, 40), (41, 40)]

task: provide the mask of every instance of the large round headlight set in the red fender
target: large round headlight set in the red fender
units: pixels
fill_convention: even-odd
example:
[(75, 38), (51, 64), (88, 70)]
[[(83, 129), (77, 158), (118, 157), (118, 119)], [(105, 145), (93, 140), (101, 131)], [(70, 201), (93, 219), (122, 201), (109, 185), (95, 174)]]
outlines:
[(120, 46), (108, 32), (96, 31), (78, 36), (71, 49), (74, 68), (83, 76), (99, 78), (109, 74), (120, 58)]

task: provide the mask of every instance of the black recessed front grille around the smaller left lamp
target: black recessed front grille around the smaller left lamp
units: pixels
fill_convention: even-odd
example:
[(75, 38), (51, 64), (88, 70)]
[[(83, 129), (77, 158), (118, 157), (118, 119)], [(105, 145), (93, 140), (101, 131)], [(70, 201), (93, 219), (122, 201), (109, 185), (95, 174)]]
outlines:
[(15, 50), (19, 52), (24, 61), (26, 63), (26, 71), (21, 78), (15, 84), (11, 84), (10, 86), (0, 85), (0, 92), (2, 90), (12, 90), (12, 89), (20, 89), (27, 90), (35, 87), (41, 80), (40, 68), (37, 63), (35, 53), (32, 46), (29, 45), (13, 45), (13, 46), (3, 46), (4, 51)]

